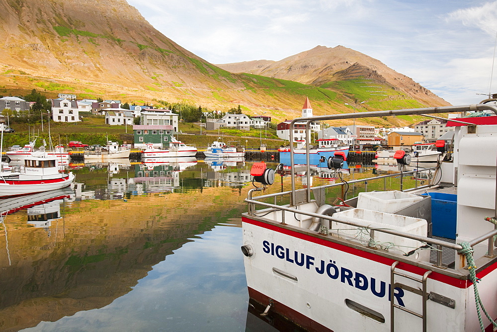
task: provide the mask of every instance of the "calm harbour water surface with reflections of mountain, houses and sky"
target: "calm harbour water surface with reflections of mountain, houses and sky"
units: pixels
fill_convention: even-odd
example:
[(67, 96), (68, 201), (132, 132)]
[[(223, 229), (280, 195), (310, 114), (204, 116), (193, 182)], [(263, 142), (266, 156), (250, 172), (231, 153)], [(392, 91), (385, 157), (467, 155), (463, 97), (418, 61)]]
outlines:
[(0, 200), (2, 331), (274, 330), (248, 313), (250, 163), (71, 166), (72, 188)]

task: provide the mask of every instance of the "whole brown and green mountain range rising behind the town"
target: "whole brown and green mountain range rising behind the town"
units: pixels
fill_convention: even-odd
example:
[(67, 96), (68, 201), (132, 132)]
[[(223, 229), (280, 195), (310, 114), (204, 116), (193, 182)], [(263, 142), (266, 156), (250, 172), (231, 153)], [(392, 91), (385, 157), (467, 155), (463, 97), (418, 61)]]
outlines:
[[(354, 59), (336, 64), (314, 56), (326, 49), (322, 47), (287, 58), (288, 75), (274, 67), (281, 62), (271, 61), (252, 62), (264, 76), (241, 73), (245, 70), (230, 73), (167, 38), (125, 0), (0, 0), (0, 12), (3, 95), (25, 95), (36, 88), (48, 97), (74, 93), (79, 98), (155, 105), (188, 102), (223, 111), (240, 104), (247, 114), (266, 112), (274, 121), (300, 116), (306, 96), (316, 115), (351, 112), (344, 103), (366, 98), (368, 110), (447, 104), (436, 96), (425, 97), (429, 91), (419, 85), (404, 86), (407, 78), (391, 70), (396, 75), (390, 83), (390, 78), (380, 75), (388, 68), (377, 60), (369, 58), (378, 68)], [(355, 63), (364, 66), (363, 74), (353, 72)], [(309, 65), (314, 66), (312, 71)], [(335, 70), (324, 70), (327, 67)], [(361, 87), (365, 79), (380, 76), (386, 82), (383, 95), (372, 96)], [(411, 86), (426, 93), (408, 93)], [(378, 124), (415, 120), (397, 118)]]

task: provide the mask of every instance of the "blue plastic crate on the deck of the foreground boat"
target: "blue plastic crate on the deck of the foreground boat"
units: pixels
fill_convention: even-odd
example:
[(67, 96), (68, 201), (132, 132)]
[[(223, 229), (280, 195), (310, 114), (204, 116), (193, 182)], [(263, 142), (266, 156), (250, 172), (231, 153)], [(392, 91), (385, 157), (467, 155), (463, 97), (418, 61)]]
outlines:
[(441, 192), (428, 192), (428, 195), (431, 196), (431, 224), (433, 236), (455, 240), (457, 195)]

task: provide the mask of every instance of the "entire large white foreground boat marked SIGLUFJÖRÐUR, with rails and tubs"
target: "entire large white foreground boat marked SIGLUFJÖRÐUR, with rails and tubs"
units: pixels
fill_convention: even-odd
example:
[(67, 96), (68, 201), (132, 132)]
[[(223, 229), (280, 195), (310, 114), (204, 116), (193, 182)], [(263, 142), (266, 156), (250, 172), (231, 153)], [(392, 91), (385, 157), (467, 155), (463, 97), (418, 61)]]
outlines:
[[(497, 114), (495, 105), (475, 104), (298, 118), (291, 125), (469, 110)], [(242, 252), (249, 303), (264, 308), (258, 314), (281, 315), (309, 331), (495, 330), (497, 117), (486, 118), (494, 122), (453, 124), (453, 161), (438, 163), (436, 182), (417, 187), (407, 188), (403, 179), (416, 171), (399, 158), (396, 174), (297, 189), (291, 158), (291, 191), (265, 194), (274, 171), (254, 164), (251, 174), (261, 184), (245, 200)], [(400, 190), (368, 192), (368, 183), (386, 186), (392, 176)], [(328, 202), (329, 188), (359, 183), (359, 197)]]

